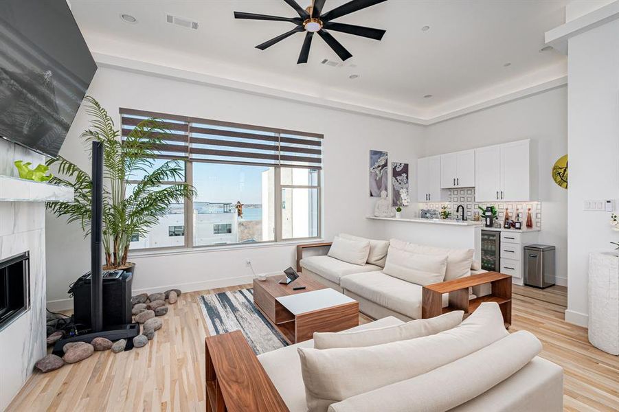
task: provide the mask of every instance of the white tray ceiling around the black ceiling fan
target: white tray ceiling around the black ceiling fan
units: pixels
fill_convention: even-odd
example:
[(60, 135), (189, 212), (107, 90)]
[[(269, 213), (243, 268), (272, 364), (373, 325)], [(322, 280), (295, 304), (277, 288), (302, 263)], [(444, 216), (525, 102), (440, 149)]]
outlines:
[[(544, 33), (564, 23), (567, 0), (388, 0), (337, 19), (387, 30), (382, 41), (331, 32), (353, 55), (344, 67), (321, 64), (339, 60), (318, 36), (306, 65), (296, 64), (304, 34), (254, 48), (293, 24), (236, 20), (233, 12), (297, 16), (283, 0), (70, 2), (93, 52), (420, 118), (566, 73), (565, 56), (539, 50)], [(343, 3), (326, 0), (324, 10)], [(137, 23), (122, 21), (123, 13)], [(197, 21), (199, 30), (166, 23), (166, 13)], [(353, 73), (360, 77), (350, 80)]]

